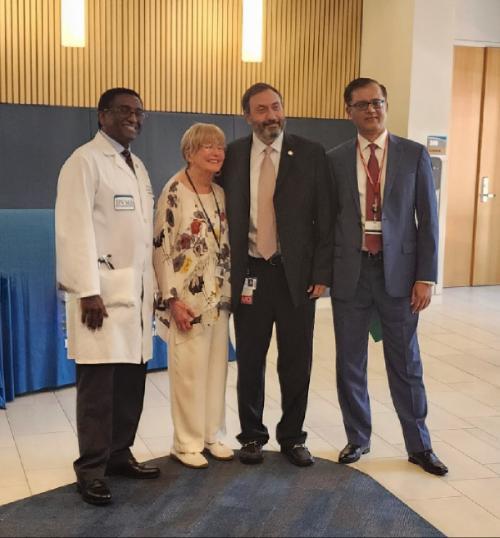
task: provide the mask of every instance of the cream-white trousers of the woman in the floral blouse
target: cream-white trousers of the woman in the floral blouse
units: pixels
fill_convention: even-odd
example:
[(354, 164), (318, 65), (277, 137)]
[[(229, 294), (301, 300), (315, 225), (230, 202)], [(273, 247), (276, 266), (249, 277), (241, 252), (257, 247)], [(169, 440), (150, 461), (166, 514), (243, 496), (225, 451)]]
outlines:
[[(172, 324), (172, 333), (177, 327)], [(200, 334), (180, 343), (171, 334), (168, 344), (170, 408), (174, 450), (201, 452), (225, 433), (225, 401), (229, 315), (205, 326)]]

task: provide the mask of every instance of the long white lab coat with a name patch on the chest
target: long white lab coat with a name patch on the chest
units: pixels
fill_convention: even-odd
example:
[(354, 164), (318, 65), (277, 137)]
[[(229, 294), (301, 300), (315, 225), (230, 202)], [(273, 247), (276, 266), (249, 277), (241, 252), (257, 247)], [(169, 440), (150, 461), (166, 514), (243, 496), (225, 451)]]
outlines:
[[(68, 292), (68, 356), (79, 364), (152, 356), (153, 192), (144, 164), (133, 161), (136, 175), (99, 132), (59, 175), (57, 279)], [(98, 262), (108, 255), (114, 269)], [(96, 331), (81, 322), (80, 297), (90, 295), (101, 295), (109, 315)]]

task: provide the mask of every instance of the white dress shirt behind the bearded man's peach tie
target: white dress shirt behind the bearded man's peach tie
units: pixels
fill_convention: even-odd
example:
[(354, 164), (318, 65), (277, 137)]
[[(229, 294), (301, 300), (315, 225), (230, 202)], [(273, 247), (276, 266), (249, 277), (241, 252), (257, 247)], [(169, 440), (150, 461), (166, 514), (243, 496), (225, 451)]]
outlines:
[[(280, 163), (281, 148), (283, 146), (283, 133), (271, 144), (274, 151), (271, 152), (271, 161), (274, 164), (276, 175)], [(264, 150), (267, 145), (260, 140), (255, 133), (252, 137), (252, 149), (250, 151), (250, 226), (248, 229), (248, 254), (254, 258), (262, 258), (257, 250), (257, 200), (259, 194), (259, 176)], [(279, 244), (279, 241), (278, 241)]]

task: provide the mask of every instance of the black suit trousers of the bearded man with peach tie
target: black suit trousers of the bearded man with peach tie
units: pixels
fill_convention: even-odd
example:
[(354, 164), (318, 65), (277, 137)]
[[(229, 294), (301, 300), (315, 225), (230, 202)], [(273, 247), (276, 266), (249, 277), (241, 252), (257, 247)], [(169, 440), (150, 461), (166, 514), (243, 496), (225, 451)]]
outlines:
[(266, 355), (273, 326), (278, 343), (278, 377), (282, 417), (276, 439), (282, 447), (303, 443), (302, 430), (311, 376), (314, 301), (295, 307), (283, 266), (250, 258), (249, 276), (257, 279), (252, 304), (240, 304), (234, 315), (238, 361), (240, 443), (264, 445), (269, 433), (263, 424)]

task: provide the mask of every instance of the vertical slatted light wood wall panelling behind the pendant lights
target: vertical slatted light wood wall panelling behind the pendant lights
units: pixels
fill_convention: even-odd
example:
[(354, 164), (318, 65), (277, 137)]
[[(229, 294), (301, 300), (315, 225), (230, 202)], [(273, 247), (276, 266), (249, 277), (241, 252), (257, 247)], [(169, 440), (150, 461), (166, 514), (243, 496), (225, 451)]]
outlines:
[(0, 102), (96, 106), (137, 90), (149, 110), (238, 114), (266, 81), (289, 116), (343, 118), (362, 0), (265, 0), (264, 61), (241, 62), (241, 0), (87, 0), (87, 46), (60, 45), (59, 0), (0, 0)]

